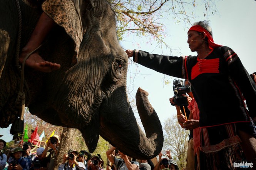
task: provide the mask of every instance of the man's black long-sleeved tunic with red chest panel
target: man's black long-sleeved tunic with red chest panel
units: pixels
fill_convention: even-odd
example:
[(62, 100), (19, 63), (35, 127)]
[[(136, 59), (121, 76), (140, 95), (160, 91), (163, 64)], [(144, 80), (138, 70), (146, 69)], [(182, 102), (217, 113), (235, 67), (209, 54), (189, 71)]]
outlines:
[(229, 47), (216, 48), (202, 60), (135, 50), (134, 61), (169, 76), (189, 79), (200, 110), (200, 127), (249, 122), (249, 116), (256, 120), (256, 85)]

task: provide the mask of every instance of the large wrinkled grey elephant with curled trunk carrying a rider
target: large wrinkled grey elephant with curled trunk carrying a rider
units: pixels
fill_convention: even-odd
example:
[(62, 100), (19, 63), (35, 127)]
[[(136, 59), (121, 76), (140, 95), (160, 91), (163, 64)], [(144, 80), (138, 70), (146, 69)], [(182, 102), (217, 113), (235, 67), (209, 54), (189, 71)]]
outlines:
[[(28, 41), (42, 13), (37, 5), (0, 0), (0, 127), (20, 117), (14, 107), (20, 87), (17, 42), (20, 50)], [(61, 68), (42, 73), (25, 68), (25, 104), (30, 113), (53, 125), (79, 129), (89, 152), (99, 135), (124, 154), (138, 159), (156, 157), (163, 145), (161, 122), (141, 88), (136, 104), (146, 135), (137, 124), (126, 92), (128, 56), (119, 45), (115, 13), (105, 0), (80, 0), (84, 35), (77, 63), (70, 66), (73, 45), (61, 26), (55, 27), (38, 53)]]

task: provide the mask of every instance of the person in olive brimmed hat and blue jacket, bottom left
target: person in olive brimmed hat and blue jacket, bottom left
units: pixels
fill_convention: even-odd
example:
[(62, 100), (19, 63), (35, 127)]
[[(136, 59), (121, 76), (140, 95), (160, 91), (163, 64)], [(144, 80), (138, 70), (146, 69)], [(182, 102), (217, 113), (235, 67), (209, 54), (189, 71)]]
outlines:
[(11, 150), (11, 157), (8, 160), (8, 170), (29, 170), (31, 167), (30, 161), (22, 157), (25, 151), (21, 147), (16, 147)]

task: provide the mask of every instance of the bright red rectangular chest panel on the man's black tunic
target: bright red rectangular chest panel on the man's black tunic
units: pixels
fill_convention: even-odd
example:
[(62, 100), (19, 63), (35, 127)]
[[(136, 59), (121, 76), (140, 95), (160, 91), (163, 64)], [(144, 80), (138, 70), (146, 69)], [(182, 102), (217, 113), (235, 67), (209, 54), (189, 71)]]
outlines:
[(203, 73), (219, 73), (219, 58), (198, 59), (196, 65), (191, 70), (191, 79)]

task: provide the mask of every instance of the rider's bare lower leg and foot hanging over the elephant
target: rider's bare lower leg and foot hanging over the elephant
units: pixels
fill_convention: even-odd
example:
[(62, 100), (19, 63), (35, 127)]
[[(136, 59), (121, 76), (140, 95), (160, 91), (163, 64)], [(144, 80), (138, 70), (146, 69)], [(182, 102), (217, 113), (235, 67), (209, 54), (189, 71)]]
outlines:
[[(39, 45), (42, 44), (45, 37), (55, 25), (56, 23), (54, 20), (52, 20), (52, 18), (48, 17), (44, 12), (41, 14), (27, 45), (25, 45), (25, 47), (22, 49), (19, 56), (20, 64), (23, 63), (25, 57), (31, 51), (35, 50)], [(25, 65), (43, 72), (51, 72), (60, 68), (60, 64), (45, 61), (37, 52), (28, 56), (27, 60), (25, 61)]]

